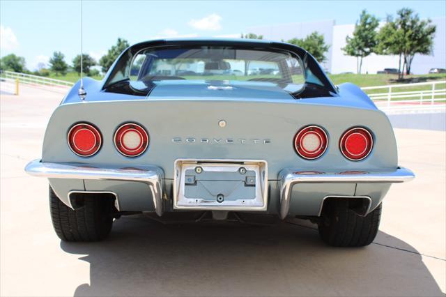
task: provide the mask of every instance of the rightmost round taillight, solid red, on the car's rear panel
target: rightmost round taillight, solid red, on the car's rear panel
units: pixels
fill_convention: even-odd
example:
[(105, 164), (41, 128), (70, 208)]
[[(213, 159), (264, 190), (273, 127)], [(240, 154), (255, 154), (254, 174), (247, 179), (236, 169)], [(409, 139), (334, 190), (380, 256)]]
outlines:
[(364, 128), (355, 127), (347, 130), (339, 141), (341, 153), (348, 160), (359, 161), (367, 157), (374, 146), (371, 133)]

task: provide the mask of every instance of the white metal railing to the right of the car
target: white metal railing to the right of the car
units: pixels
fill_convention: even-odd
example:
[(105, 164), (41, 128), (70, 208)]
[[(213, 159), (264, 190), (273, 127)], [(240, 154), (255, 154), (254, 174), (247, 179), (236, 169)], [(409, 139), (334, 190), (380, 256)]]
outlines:
[[(425, 86), (427, 86), (427, 88)], [(404, 88), (405, 90), (398, 91), (398, 89), (401, 88)], [(371, 90), (381, 89), (385, 92), (370, 93)], [(418, 90), (408, 91), (407, 89)], [(367, 86), (362, 88), (362, 90), (369, 93), (369, 97), (371, 100), (374, 100), (378, 108), (387, 113), (442, 112), (446, 110), (446, 80), (418, 82), (415, 84)]]

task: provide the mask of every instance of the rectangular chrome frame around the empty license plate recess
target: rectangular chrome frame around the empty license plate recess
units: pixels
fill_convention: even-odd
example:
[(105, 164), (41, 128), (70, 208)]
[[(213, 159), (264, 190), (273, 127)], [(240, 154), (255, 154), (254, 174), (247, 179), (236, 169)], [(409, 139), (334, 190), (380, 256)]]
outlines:
[[(234, 163), (234, 164), (231, 164)], [(259, 192), (261, 193), (261, 204), (252, 206), (229, 206), (229, 205), (178, 205), (180, 196), (183, 195), (183, 190), (181, 187), (181, 181), (184, 178), (184, 172), (181, 169), (183, 166), (190, 165), (200, 165), (200, 166), (215, 166), (218, 165), (235, 165), (243, 164), (245, 166), (256, 165), (259, 167)], [(254, 167), (254, 166), (253, 166)], [(264, 169), (261, 172), (261, 169)], [(184, 185), (184, 183), (183, 183)], [(174, 209), (190, 209), (190, 210), (206, 210), (206, 211), (266, 211), (268, 208), (268, 162), (266, 160), (234, 160), (234, 159), (176, 159), (174, 163)], [(257, 186), (257, 185), (256, 185)], [(185, 198), (187, 199), (187, 198)], [(194, 199), (191, 199), (194, 200)], [(242, 199), (243, 200), (243, 199)]]

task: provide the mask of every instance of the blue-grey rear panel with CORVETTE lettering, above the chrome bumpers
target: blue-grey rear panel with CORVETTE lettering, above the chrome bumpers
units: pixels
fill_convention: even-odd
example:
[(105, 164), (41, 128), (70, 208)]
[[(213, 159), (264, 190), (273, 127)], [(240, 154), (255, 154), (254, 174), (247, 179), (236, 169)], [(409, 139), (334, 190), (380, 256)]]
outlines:
[[(221, 96), (235, 91), (214, 92)], [(348, 98), (352, 91), (347, 93), (347, 90), (346, 97), (341, 91), (339, 97), (305, 100), (262, 98), (268, 91), (254, 91), (258, 94), (256, 99), (150, 96), (144, 100), (114, 100), (116, 94), (101, 93), (104, 100), (76, 103), (66, 100), (70, 103), (60, 105), (49, 121), (42, 159), (98, 166), (155, 165), (164, 170), (167, 179), (174, 178), (174, 162), (178, 158), (266, 160), (269, 180), (277, 180), (277, 174), (286, 167), (302, 170), (397, 167), (397, 146), (387, 116), (371, 102)], [(105, 100), (107, 97), (109, 100)], [(359, 107), (351, 105), (355, 100)], [(219, 125), (221, 120), (226, 121), (224, 128)], [(90, 158), (75, 155), (66, 142), (68, 129), (79, 121), (94, 123), (102, 132), (102, 148)], [(128, 121), (143, 125), (150, 137), (146, 153), (137, 158), (121, 155), (113, 144), (116, 128)], [(320, 125), (328, 133), (328, 149), (316, 160), (304, 160), (293, 149), (295, 133), (310, 124)], [(347, 160), (339, 151), (342, 133), (353, 125), (367, 127), (375, 134), (374, 150), (360, 162)]]

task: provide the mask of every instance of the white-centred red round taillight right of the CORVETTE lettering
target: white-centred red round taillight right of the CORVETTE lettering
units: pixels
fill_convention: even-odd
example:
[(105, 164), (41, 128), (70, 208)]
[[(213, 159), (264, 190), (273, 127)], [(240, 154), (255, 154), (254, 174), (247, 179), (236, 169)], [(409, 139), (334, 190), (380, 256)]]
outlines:
[(309, 125), (300, 129), (294, 137), (295, 151), (308, 160), (321, 157), (327, 150), (327, 133), (316, 125)]

